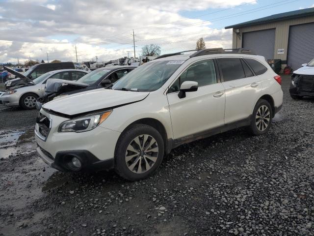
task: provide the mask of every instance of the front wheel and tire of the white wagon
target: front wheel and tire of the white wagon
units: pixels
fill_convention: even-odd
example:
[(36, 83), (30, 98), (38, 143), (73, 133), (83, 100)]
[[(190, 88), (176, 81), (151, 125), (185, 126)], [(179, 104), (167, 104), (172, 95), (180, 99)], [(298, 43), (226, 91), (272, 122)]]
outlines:
[(146, 124), (132, 125), (121, 134), (115, 151), (115, 170), (131, 181), (151, 176), (160, 166), (164, 143), (160, 133)]

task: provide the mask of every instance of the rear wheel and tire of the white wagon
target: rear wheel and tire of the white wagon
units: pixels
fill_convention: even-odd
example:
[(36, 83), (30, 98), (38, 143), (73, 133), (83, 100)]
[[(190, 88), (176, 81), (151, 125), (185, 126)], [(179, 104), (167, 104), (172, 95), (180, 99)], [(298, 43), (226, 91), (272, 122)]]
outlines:
[(267, 133), (273, 118), (272, 108), (264, 99), (258, 100), (255, 105), (249, 131), (253, 135), (262, 135)]

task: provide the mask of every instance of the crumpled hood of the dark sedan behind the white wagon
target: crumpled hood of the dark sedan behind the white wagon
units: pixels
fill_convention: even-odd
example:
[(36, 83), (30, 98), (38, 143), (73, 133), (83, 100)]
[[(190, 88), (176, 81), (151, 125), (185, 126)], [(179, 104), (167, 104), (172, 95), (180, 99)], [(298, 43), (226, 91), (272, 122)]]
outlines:
[[(67, 92), (66, 85), (72, 85), (71, 88), (84, 89), (88, 86), (88, 84), (70, 81), (70, 80), (60, 80), (60, 79), (49, 79), (45, 86), (46, 92), (52, 93), (63, 93)], [(69, 91), (72, 91), (69, 90)]]

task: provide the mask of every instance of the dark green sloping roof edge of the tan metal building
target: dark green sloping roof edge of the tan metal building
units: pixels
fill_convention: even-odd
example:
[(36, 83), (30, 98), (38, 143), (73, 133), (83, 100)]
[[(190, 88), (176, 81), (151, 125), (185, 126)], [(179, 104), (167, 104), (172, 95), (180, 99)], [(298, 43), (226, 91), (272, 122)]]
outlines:
[(314, 16), (314, 7), (296, 10), (296, 11), (288, 11), (288, 12), (279, 13), (279, 14), (275, 14), (271, 16), (266, 16), (266, 17), (255, 19), (252, 21), (247, 21), (240, 24), (227, 26), (225, 27), (225, 29), (241, 28), (241, 27), (246, 27), (246, 26), (265, 24), (265, 23), (274, 22), (274, 21), (299, 18), (299, 17), (304, 17), (304, 16)]

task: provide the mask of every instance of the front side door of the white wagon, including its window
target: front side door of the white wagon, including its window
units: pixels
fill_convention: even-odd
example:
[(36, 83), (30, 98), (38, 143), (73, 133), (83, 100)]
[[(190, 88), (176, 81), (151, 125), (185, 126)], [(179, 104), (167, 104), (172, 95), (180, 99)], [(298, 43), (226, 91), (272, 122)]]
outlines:
[[(217, 80), (218, 75), (214, 59), (201, 60), (191, 64), (169, 87), (167, 98), (177, 142), (224, 124), (225, 89)], [(186, 97), (179, 98), (179, 88), (184, 81), (196, 81), (198, 90), (186, 92)]]

